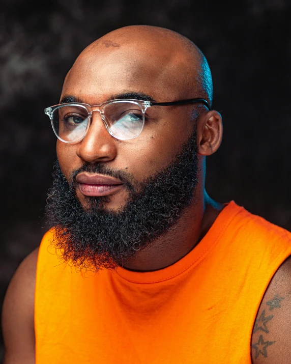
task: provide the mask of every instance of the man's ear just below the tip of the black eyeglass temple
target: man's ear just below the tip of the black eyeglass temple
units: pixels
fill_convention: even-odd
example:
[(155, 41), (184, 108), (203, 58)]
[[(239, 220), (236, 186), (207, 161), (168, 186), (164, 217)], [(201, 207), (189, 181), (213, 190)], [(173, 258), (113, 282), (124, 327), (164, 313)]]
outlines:
[(217, 151), (222, 140), (222, 118), (218, 111), (208, 111), (197, 123), (197, 144), (200, 155)]

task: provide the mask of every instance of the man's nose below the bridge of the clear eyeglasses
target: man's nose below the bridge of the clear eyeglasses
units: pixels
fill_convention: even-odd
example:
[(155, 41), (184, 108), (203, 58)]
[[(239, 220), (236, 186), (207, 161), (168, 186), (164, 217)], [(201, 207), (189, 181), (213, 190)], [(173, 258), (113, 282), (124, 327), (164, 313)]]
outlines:
[(91, 118), (89, 130), (76, 151), (77, 156), (89, 163), (111, 161), (117, 155), (117, 139), (108, 133), (99, 109), (92, 112)]

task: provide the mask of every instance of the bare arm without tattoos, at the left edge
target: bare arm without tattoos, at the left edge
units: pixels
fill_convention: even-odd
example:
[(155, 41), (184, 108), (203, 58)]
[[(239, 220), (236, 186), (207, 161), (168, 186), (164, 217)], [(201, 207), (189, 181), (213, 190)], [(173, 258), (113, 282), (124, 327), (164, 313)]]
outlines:
[(38, 248), (19, 265), (5, 296), (2, 326), (4, 364), (34, 364), (34, 296)]

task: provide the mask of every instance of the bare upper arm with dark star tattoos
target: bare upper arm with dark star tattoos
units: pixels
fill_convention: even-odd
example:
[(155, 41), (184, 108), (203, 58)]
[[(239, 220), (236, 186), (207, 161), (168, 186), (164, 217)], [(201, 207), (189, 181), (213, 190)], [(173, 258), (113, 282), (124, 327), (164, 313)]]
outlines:
[(291, 258), (273, 276), (253, 327), (253, 364), (291, 362)]

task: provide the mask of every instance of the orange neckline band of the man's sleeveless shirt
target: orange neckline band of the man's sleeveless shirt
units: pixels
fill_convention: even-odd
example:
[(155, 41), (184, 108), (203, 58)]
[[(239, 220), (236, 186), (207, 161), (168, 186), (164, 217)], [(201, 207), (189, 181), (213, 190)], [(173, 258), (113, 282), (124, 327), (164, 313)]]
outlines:
[(176, 277), (184, 271), (193, 268), (193, 266), (198, 265), (207, 256), (211, 246), (217, 242), (235, 215), (243, 210), (243, 207), (238, 206), (234, 201), (225, 205), (226, 206), (219, 213), (207, 234), (185, 257), (181, 258), (178, 262), (166, 268), (151, 272), (135, 272), (118, 267), (118, 275), (131, 283), (153, 284), (167, 281), (168, 279)]

